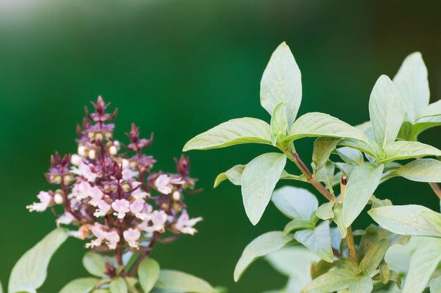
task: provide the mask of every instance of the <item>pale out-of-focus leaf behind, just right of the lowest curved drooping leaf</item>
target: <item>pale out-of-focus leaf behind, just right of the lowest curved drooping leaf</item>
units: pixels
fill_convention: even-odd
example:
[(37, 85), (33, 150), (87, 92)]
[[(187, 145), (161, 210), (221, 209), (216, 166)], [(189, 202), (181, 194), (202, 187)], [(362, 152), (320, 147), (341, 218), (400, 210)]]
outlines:
[[(276, 252), (265, 256), (265, 259), (282, 275), (297, 275), (300, 279), (306, 279), (306, 286), (311, 282), (311, 265), (320, 261), (320, 258), (301, 245), (283, 247)], [(300, 288), (302, 289), (302, 288)]]

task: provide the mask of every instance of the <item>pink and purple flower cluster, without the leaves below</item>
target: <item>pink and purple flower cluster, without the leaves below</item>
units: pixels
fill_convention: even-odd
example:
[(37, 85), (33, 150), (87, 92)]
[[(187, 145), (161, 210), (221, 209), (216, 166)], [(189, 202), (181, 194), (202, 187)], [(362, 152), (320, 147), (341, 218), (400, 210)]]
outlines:
[(175, 174), (151, 173), (156, 161), (142, 150), (149, 148), (153, 136), (139, 138), (139, 129), (132, 124), (130, 143), (122, 145), (114, 140), (110, 123), (117, 111), (106, 113), (109, 104), (101, 97), (92, 105), (94, 112), (86, 108), (87, 118), (77, 127), (77, 154), (51, 157), (46, 178), (60, 188), (40, 192), (39, 202), (27, 209), (51, 209), (58, 226), (71, 227), (70, 235), (89, 239), (86, 247), (101, 252), (124, 248), (142, 252), (165, 233), (172, 234), (168, 238), (196, 233), (194, 225), (201, 218), (190, 219), (183, 202), (183, 193), (195, 183), (189, 159), (175, 160)]

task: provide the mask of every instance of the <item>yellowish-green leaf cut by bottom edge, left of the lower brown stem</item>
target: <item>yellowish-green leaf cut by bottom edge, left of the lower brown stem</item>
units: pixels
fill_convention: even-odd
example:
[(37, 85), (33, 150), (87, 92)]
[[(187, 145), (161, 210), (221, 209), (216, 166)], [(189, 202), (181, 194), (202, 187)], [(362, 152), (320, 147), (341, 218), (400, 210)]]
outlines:
[(324, 273), (309, 283), (301, 293), (329, 293), (349, 285), (355, 277), (355, 272), (350, 270), (335, 270)]

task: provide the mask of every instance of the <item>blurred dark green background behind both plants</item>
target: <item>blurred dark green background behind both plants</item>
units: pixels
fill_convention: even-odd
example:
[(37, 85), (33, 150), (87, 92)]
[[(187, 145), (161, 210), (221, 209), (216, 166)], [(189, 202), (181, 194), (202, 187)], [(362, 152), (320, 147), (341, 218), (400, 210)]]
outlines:
[[(49, 155), (74, 152), (83, 105), (99, 94), (118, 106), (116, 137), (136, 122), (155, 133), (156, 170), (174, 170), (182, 145), (227, 119), (269, 119), (259, 105), (261, 74), (282, 41), (302, 70), (300, 114), (328, 112), (352, 124), (368, 119), (368, 97), (380, 74), (391, 77), (404, 57), (421, 51), (432, 101), (441, 93), (440, 1), (0, 0), (0, 279), (55, 226), (51, 213), (30, 214)], [(421, 136), (441, 148), (440, 129)], [(310, 162), (312, 140), (297, 144)], [(187, 197), (199, 233), (155, 249), (164, 268), (199, 275), (230, 292), (261, 292), (285, 282), (258, 261), (235, 284), (232, 271), (254, 237), (287, 219), (271, 204), (257, 226), (240, 188), (213, 190), (218, 173), (271, 150), (240, 145), (190, 152), (204, 193)], [(303, 185), (306, 186), (306, 185)], [(378, 197), (438, 209), (428, 185), (397, 178)], [(356, 222), (362, 228), (368, 218)], [(81, 242), (68, 240), (49, 268), (43, 292), (87, 275)]]

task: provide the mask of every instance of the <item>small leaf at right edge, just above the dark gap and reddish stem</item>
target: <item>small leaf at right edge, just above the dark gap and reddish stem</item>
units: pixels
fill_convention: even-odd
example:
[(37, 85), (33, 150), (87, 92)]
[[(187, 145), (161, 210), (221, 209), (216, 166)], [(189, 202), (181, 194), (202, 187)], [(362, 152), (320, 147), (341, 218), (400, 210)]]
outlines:
[(441, 162), (436, 159), (417, 159), (405, 164), (396, 173), (411, 181), (441, 182)]

